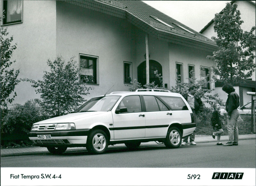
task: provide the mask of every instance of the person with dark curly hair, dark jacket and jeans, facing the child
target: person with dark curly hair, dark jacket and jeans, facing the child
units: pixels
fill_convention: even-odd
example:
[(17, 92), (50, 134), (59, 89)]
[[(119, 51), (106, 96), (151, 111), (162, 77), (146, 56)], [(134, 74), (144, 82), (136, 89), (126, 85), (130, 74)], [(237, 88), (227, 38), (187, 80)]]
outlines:
[(228, 112), (228, 142), (223, 146), (238, 145), (237, 118), (239, 113), (237, 108), (240, 105), (239, 96), (231, 84), (225, 84), (222, 90), (228, 93), (228, 99), (226, 101), (226, 110)]

